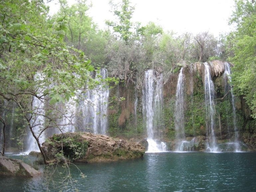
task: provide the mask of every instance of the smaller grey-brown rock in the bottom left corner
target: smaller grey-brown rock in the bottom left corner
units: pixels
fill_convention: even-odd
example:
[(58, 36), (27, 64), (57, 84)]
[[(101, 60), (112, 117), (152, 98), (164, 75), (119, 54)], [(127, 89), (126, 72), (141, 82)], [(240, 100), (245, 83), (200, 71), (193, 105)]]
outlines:
[(0, 156), (0, 175), (34, 177), (41, 174), (21, 160)]

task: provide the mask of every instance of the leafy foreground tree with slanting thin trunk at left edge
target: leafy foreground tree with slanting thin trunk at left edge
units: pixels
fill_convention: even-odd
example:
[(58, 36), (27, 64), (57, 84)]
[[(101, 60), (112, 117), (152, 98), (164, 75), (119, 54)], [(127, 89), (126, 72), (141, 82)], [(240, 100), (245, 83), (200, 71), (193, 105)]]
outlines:
[[(65, 30), (63, 20), (52, 26), (47, 14), (48, 8), (41, 0), (5, 0), (0, 5), (0, 100), (16, 103), (45, 164), (49, 162), (39, 138), (52, 126), (61, 130), (56, 103), (67, 102), (78, 89), (83, 91), (93, 70), (83, 52), (64, 43), (60, 33)], [(52, 111), (40, 114), (50, 123), (44, 124), (38, 135), (31, 122), (38, 115), (38, 110), (32, 108), (33, 98)]]

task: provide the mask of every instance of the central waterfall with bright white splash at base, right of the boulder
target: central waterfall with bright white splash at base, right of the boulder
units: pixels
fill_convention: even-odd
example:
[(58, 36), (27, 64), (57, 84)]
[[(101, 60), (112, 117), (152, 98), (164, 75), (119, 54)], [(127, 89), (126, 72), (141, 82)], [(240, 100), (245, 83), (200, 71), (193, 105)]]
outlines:
[(154, 70), (145, 71), (144, 88), (142, 90), (143, 114), (147, 129), (147, 152), (166, 151), (166, 145), (160, 141), (162, 128), (162, 74)]

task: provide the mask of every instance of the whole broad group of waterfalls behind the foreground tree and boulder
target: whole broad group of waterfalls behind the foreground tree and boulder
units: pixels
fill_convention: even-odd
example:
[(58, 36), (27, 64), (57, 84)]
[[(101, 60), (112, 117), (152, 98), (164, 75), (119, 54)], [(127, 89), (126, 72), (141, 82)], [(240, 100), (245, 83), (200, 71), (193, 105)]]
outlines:
[[(107, 70), (101, 69), (100, 74), (96, 75), (95, 80), (100, 82), (101, 79), (105, 79), (106, 77)], [(35, 75), (35, 81), (38, 81), (40, 84), (40, 81), (42, 80), (44, 80), (44, 76), (37, 73)], [(38, 88), (38, 96), (43, 94), (43, 90), (43, 86)], [(56, 108), (60, 111), (60, 114), (57, 114), (60, 115), (56, 122), (58, 127), (53, 125), (54, 127), (45, 130), (39, 137), (41, 144), (45, 141), (46, 137), (52, 136), (54, 133), (75, 132), (75, 126), (79, 124), (79, 118), (83, 121), (83, 124), (79, 124), (79, 126), (89, 126), (89, 128), (92, 128), (94, 134), (106, 134), (108, 126), (108, 119), (106, 118), (109, 96), (108, 86), (99, 83), (93, 90), (88, 90), (85, 94), (86, 99), (85, 101), (80, 101), (80, 106), (77, 106), (76, 104), (78, 96), (81, 96), (79, 90), (77, 91), (76, 96), (71, 98), (66, 104), (57, 104), (58, 106), (56, 106)], [(45, 108), (47, 107), (42, 100), (44, 100), (44, 97), (41, 97), (40, 99), (35, 96), (33, 97), (33, 112), (31, 114), (32, 118), (30, 124), (32, 125), (32, 129), (36, 136), (39, 136), (45, 124), (44, 114), (45, 110), (47, 110)], [(82, 111), (82, 116), (77, 116), (77, 111)], [(31, 131), (28, 130), (25, 154), (28, 154), (30, 151), (39, 151), (39, 148)]]

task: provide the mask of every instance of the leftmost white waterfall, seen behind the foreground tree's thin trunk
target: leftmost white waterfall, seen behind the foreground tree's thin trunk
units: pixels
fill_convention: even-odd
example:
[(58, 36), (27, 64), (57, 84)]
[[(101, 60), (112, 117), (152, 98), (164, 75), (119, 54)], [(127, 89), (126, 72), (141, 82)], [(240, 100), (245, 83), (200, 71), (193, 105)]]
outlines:
[[(44, 76), (40, 73), (35, 75), (35, 80), (36, 81), (41, 81), (44, 79)], [(43, 88), (38, 88), (37, 92), (38, 96), (43, 95)], [(41, 98), (43, 99), (43, 98)], [(33, 96), (33, 103), (32, 103), (32, 118), (30, 120), (30, 125), (32, 126), (32, 130), (34, 134), (38, 137), (40, 132), (44, 129), (44, 114), (45, 114), (45, 109), (44, 109), (44, 102), (40, 100), (39, 98)], [(27, 149), (25, 154), (29, 154), (31, 151), (39, 151), (38, 144), (36, 143), (36, 139), (32, 135), (30, 129), (28, 129), (28, 136), (27, 136)], [(45, 141), (45, 132), (43, 132), (40, 137), (39, 137), (39, 142), (42, 144)]]

